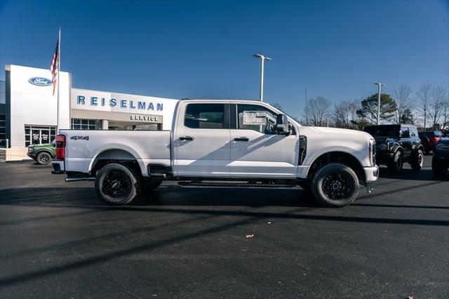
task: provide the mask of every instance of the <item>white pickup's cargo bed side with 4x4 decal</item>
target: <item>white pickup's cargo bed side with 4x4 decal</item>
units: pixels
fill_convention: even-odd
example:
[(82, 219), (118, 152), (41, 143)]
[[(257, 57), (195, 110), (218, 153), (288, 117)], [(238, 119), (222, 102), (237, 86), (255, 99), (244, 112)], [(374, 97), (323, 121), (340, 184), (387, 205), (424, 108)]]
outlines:
[(148, 164), (170, 166), (170, 131), (60, 130), (66, 135), (65, 168), (88, 173), (95, 159), (114, 152), (123, 159), (136, 159), (147, 176)]

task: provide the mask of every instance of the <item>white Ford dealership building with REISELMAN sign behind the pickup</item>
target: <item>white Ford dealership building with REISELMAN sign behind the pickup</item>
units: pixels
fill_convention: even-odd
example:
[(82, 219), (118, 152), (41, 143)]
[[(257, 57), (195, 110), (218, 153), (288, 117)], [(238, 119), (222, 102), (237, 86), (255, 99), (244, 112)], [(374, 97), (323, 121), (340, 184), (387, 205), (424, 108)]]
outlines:
[[(60, 72), (53, 94), (48, 69), (6, 65), (0, 81), (0, 147), (6, 160), (26, 157), (28, 145), (50, 143), (59, 128), (170, 130), (177, 100), (72, 87)], [(59, 109), (59, 111), (58, 111)], [(1, 158), (0, 158), (1, 159)]]

